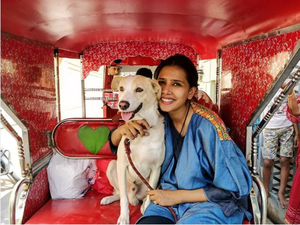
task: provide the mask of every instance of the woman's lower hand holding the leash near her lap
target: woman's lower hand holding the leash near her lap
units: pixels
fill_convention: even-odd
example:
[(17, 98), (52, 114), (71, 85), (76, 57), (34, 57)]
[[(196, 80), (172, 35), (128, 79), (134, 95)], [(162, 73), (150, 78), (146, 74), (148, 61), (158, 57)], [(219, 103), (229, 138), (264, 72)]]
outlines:
[(181, 203), (181, 197), (178, 191), (173, 190), (151, 190), (146, 192), (149, 195), (150, 200), (154, 204), (161, 206), (172, 206)]

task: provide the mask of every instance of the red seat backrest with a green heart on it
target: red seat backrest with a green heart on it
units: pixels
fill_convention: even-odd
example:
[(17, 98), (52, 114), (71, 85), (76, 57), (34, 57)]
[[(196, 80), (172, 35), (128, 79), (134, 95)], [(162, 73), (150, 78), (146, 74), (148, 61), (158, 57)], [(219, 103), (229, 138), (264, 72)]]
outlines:
[(52, 142), (60, 154), (69, 158), (116, 158), (107, 138), (120, 124), (111, 119), (65, 119), (53, 129)]

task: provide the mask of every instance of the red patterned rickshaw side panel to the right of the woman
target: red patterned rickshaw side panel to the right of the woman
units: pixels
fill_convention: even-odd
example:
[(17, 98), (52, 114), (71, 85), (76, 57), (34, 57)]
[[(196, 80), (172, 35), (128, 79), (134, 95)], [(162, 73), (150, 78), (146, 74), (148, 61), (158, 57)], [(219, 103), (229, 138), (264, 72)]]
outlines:
[(222, 51), (222, 119), (244, 152), (247, 122), (299, 39), (295, 31)]

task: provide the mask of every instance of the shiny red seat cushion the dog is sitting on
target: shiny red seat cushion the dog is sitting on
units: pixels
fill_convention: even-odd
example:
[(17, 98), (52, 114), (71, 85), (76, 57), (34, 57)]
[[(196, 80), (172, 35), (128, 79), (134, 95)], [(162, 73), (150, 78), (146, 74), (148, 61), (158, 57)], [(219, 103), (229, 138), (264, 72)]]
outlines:
[[(91, 189), (80, 199), (49, 200), (26, 224), (116, 224), (120, 215), (120, 202), (100, 205), (106, 195)], [(130, 223), (140, 218), (140, 205), (129, 205)]]

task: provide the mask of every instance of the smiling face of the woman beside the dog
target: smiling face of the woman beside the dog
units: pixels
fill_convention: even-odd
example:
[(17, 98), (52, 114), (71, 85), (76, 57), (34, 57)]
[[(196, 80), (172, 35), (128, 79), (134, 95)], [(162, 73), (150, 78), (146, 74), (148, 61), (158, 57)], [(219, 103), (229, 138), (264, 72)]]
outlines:
[(186, 112), (186, 101), (194, 95), (194, 89), (186, 79), (186, 74), (179, 66), (165, 66), (158, 75), (162, 89), (159, 106), (168, 113)]

